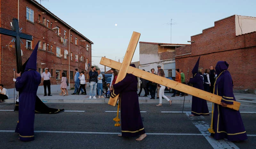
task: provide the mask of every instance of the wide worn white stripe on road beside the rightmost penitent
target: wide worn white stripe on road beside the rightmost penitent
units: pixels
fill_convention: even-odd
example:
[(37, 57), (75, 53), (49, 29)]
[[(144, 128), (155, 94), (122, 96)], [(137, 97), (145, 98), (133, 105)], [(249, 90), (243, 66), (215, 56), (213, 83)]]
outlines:
[[(205, 139), (212, 145), (213, 148), (232, 148), (232, 149), (239, 149), (233, 142), (228, 141), (226, 139), (222, 140), (215, 140), (214, 138), (210, 137), (210, 133), (208, 132), (208, 128), (210, 128), (210, 125), (207, 122), (204, 122), (203, 116), (189, 116), (190, 112), (187, 112), (186, 115), (190, 120), (192, 120), (192, 123), (196, 126), (196, 128), (202, 133), (202, 135), (205, 137)], [(198, 120), (198, 118), (201, 118), (202, 120)], [(196, 121), (193, 121), (195, 120)]]

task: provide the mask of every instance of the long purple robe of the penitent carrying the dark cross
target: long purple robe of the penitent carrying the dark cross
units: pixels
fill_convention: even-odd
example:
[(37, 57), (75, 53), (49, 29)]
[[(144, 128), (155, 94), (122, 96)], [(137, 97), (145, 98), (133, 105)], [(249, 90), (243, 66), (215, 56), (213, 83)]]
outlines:
[(19, 121), (15, 132), (20, 141), (34, 140), (34, 120), (36, 91), (41, 82), (41, 75), (35, 70), (25, 71), (16, 78), (16, 90), (19, 91)]

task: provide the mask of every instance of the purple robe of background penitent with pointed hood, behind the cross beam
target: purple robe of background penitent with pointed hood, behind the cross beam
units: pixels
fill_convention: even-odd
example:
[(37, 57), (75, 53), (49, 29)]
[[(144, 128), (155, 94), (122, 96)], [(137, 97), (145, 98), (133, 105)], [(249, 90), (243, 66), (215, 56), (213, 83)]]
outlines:
[[(201, 73), (196, 73), (193, 78), (189, 79), (189, 82), (192, 83), (193, 87), (204, 90), (204, 82), (201, 75)], [(202, 98), (192, 96), (191, 114), (194, 114), (195, 116), (210, 115), (207, 101)]]

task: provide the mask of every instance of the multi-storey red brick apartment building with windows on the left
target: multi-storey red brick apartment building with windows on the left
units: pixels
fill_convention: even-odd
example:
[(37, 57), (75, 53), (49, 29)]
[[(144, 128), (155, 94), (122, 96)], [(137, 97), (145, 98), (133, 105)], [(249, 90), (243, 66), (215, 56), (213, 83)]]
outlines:
[[(22, 39), (22, 63), (39, 42), (37, 69), (41, 74), (48, 67), (52, 84), (60, 84), (62, 72), (67, 74), (70, 83), (74, 83), (75, 68), (84, 71), (89, 78), (93, 42), (44, 6), (35, 0), (0, 0), (0, 15), (0, 27), (11, 30), (10, 22), (12, 18), (17, 18), (22, 33), (33, 36), (32, 41)], [(15, 45), (11, 40), (10, 36), (0, 34), (0, 82), (5, 88), (14, 87), (12, 78), (13, 68), (16, 69), (16, 53), (15, 48), (10, 46)]]

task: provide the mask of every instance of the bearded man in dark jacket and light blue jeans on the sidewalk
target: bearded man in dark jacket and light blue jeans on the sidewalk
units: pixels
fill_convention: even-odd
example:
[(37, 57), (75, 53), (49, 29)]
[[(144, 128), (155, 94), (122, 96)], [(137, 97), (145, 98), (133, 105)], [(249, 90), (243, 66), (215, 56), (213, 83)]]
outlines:
[(96, 72), (96, 67), (92, 66), (92, 70), (89, 72), (89, 82), (90, 82), (90, 96), (89, 99), (96, 99), (96, 88), (97, 88), (97, 81), (98, 81), (98, 73)]

